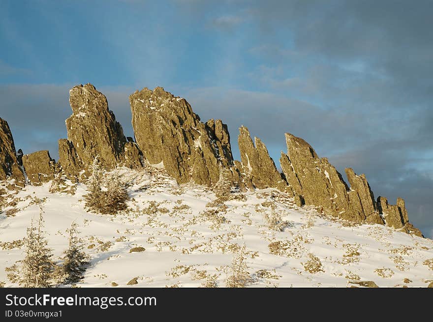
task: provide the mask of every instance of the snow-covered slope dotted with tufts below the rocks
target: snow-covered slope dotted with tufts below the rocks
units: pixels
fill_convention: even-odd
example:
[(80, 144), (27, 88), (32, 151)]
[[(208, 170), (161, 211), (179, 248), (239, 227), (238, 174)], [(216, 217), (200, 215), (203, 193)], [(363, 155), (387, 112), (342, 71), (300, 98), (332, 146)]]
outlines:
[[(433, 280), (431, 239), (319, 215), (274, 189), (234, 193), (218, 204), (211, 190), (179, 186), (162, 170), (118, 171), (132, 199), (116, 216), (86, 212), (83, 184), (73, 196), (49, 193), (49, 183), (10, 195), (0, 215), (0, 283), (16, 286), (4, 268), (23, 258), (19, 240), (39, 214), (34, 197), (46, 198), (45, 231), (56, 258), (67, 247), (65, 230), (78, 223), (92, 258), (80, 287), (126, 286), (135, 277), (129, 287), (224, 287), (244, 243), (250, 287), (346, 287), (357, 280), (427, 287)], [(287, 221), (282, 232), (264, 218), (276, 214)], [(130, 252), (134, 247), (145, 250)]]

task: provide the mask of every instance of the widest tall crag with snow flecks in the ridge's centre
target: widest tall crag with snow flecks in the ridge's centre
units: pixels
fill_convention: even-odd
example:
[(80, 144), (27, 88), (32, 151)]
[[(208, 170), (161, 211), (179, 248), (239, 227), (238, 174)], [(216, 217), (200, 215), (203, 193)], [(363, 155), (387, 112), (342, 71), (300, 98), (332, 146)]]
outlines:
[(200, 121), (184, 98), (163, 88), (129, 96), (135, 139), (150, 164), (162, 164), (179, 183), (214, 185), (219, 167), (233, 164), (227, 127)]

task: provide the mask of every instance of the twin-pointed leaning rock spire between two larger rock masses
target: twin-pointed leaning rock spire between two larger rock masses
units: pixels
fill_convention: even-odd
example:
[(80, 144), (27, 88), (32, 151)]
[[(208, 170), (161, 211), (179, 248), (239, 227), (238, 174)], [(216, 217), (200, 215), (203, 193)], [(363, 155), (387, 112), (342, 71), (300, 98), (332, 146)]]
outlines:
[(269, 156), (268, 149), (258, 138), (254, 138), (254, 143), (248, 129), (242, 126), (239, 129), (238, 144), (243, 174), (255, 188), (264, 189), (270, 187), (285, 191), (287, 182), (278, 172), (274, 160)]

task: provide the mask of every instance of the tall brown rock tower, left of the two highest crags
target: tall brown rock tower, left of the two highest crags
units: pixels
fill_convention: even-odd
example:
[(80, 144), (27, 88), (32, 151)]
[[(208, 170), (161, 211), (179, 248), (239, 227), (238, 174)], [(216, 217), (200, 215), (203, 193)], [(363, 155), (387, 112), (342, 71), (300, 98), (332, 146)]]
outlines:
[[(106, 97), (92, 84), (69, 91), (72, 116), (66, 119), (68, 140), (59, 141), (59, 163), (66, 173), (92, 165), (96, 156), (106, 169), (117, 164), (136, 166), (141, 160), (136, 147), (126, 144), (122, 126), (108, 109)], [(125, 151), (128, 156), (125, 162)]]

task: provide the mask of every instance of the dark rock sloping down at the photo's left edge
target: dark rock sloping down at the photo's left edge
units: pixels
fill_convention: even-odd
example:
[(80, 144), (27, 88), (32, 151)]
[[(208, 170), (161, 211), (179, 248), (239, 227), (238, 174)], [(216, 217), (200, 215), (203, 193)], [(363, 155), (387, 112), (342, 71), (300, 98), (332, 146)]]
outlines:
[(0, 180), (9, 177), (24, 181), (20, 165), (9, 124), (0, 118)]

